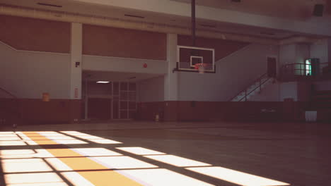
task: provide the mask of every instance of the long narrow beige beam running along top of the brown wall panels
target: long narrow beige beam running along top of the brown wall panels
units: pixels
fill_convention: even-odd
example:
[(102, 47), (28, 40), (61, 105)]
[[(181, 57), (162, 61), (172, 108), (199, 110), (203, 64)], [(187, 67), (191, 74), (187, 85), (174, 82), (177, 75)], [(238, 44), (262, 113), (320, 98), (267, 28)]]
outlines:
[[(175, 25), (163, 25), (156, 23), (134, 22), (132, 20), (121, 20), (118, 18), (105, 18), (89, 15), (77, 15), (74, 13), (64, 13), (55, 11), (44, 11), (33, 8), (0, 6), (0, 15), (20, 16), (26, 18), (39, 18), (45, 20), (57, 20), (69, 23), (83, 23), (88, 25), (102, 25), (109, 27), (121, 27), (133, 30), (145, 30), (151, 32), (174, 33), (178, 35), (191, 35), (192, 30), (188, 27), (178, 27)], [(233, 33), (216, 32), (211, 30), (196, 30), (196, 35), (199, 37), (208, 37), (214, 39), (227, 39), (240, 42), (250, 42), (259, 44), (279, 45), (289, 44), (291, 42), (313, 42), (309, 37), (300, 37), (297, 39), (277, 40), (264, 37), (254, 37), (249, 35), (239, 35)], [(306, 39), (304, 39), (306, 38)]]

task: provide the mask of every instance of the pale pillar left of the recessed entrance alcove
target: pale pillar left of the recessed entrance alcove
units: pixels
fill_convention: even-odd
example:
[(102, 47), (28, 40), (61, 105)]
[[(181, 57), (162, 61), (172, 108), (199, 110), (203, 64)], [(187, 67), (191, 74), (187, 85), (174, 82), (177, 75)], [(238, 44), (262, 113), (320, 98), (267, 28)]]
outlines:
[(82, 24), (71, 23), (70, 122), (76, 122), (81, 119), (81, 60), (83, 49), (82, 35)]

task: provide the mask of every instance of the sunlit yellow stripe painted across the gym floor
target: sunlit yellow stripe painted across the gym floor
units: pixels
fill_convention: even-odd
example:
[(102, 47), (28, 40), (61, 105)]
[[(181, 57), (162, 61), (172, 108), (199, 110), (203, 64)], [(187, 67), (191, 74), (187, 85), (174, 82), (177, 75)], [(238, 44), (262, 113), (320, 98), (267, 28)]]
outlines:
[[(37, 144), (58, 144), (53, 140), (48, 139), (45, 136), (38, 134), (37, 132), (23, 132), (24, 135), (30, 137), (31, 140), (36, 139)], [(45, 149), (50, 154), (61, 160), (67, 166), (69, 166), (74, 171), (76, 170), (109, 170), (108, 167), (101, 165), (91, 159), (88, 159), (81, 154), (76, 153), (71, 149)], [(70, 156), (75, 158), (70, 158)], [(61, 158), (69, 157), (69, 158)], [(118, 185), (118, 186), (141, 186), (138, 182), (131, 180), (116, 171), (79, 171), (77, 172), (83, 178), (90, 181), (95, 186), (109, 186), (109, 185)]]

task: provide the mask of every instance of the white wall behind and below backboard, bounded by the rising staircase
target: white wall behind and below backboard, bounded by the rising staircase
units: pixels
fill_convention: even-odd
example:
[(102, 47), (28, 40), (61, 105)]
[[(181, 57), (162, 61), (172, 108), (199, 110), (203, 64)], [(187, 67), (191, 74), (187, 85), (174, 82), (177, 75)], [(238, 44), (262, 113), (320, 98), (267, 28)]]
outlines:
[(278, 52), (278, 47), (250, 44), (217, 61), (215, 74), (179, 72), (179, 100), (228, 101), (267, 73), (267, 56)]

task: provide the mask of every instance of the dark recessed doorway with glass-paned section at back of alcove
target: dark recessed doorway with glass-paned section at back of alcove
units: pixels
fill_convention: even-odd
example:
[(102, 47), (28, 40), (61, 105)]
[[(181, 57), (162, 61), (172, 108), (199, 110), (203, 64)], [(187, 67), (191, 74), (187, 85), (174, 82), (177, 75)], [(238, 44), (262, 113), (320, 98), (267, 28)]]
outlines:
[(135, 82), (83, 82), (83, 118), (128, 120), (137, 112)]

